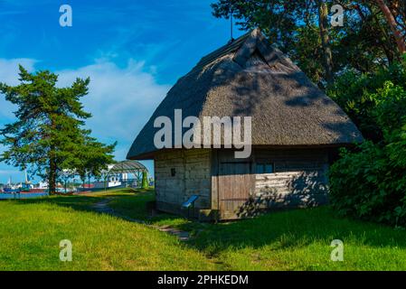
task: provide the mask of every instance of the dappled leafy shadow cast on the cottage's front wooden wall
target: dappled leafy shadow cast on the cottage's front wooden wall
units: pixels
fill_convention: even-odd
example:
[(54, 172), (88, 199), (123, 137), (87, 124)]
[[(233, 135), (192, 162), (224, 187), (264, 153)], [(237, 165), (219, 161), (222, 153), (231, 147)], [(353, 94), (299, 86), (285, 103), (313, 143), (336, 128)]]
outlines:
[(252, 218), (269, 210), (312, 208), (328, 203), (328, 187), (316, 172), (302, 172), (286, 182), (288, 191), (265, 187), (245, 202), (237, 212), (239, 218)]

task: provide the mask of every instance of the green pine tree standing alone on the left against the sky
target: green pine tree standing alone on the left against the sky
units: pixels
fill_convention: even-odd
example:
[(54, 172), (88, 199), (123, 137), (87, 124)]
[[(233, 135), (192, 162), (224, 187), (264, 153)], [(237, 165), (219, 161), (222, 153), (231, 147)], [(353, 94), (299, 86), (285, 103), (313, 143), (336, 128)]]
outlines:
[(80, 103), (90, 79), (57, 88), (52, 72), (32, 74), (20, 66), (20, 81), (15, 87), (0, 83), (0, 93), (17, 107), (17, 120), (0, 130), (0, 144), (6, 147), (0, 161), (46, 178), (51, 192), (64, 170), (97, 174), (111, 163), (115, 144), (101, 144), (82, 128), (91, 116)]

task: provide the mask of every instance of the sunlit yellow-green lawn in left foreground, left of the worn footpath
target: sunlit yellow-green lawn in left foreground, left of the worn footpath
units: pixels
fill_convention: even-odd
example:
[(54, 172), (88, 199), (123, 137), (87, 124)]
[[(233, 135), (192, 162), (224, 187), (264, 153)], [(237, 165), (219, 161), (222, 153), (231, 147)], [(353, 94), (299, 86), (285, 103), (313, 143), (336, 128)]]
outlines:
[[(202, 252), (145, 225), (89, 211), (98, 197), (0, 202), (0, 270), (212, 270)], [(72, 262), (59, 259), (61, 239)]]

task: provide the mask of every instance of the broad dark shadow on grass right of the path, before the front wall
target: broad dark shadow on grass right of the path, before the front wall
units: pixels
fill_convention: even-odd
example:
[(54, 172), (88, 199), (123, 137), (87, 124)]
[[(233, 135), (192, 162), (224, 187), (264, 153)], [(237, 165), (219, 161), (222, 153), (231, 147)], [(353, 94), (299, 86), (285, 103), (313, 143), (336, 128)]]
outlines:
[(329, 247), (335, 239), (370, 247), (406, 247), (406, 231), (353, 219), (338, 218), (329, 206), (284, 210), (255, 219), (207, 227), (190, 245), (215, 255), (227, 248), (272, 249), (306, 247), (318, 242)]

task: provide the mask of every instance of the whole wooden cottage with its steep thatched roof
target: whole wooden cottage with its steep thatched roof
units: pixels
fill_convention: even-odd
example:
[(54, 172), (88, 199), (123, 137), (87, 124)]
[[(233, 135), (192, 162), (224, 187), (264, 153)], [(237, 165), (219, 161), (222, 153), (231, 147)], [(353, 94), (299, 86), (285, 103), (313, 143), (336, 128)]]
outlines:
[[(157, 149), (156, 117), (251, 117), (252, 152)], [(256, 29), (203, 57), (179, 79), (137, 135), (127, 158), (153, 159), (158, 210), (241, 218), (258, 209), (326, 202), (326, 171), (338, 147), (361, 142), (345, 112)]]

